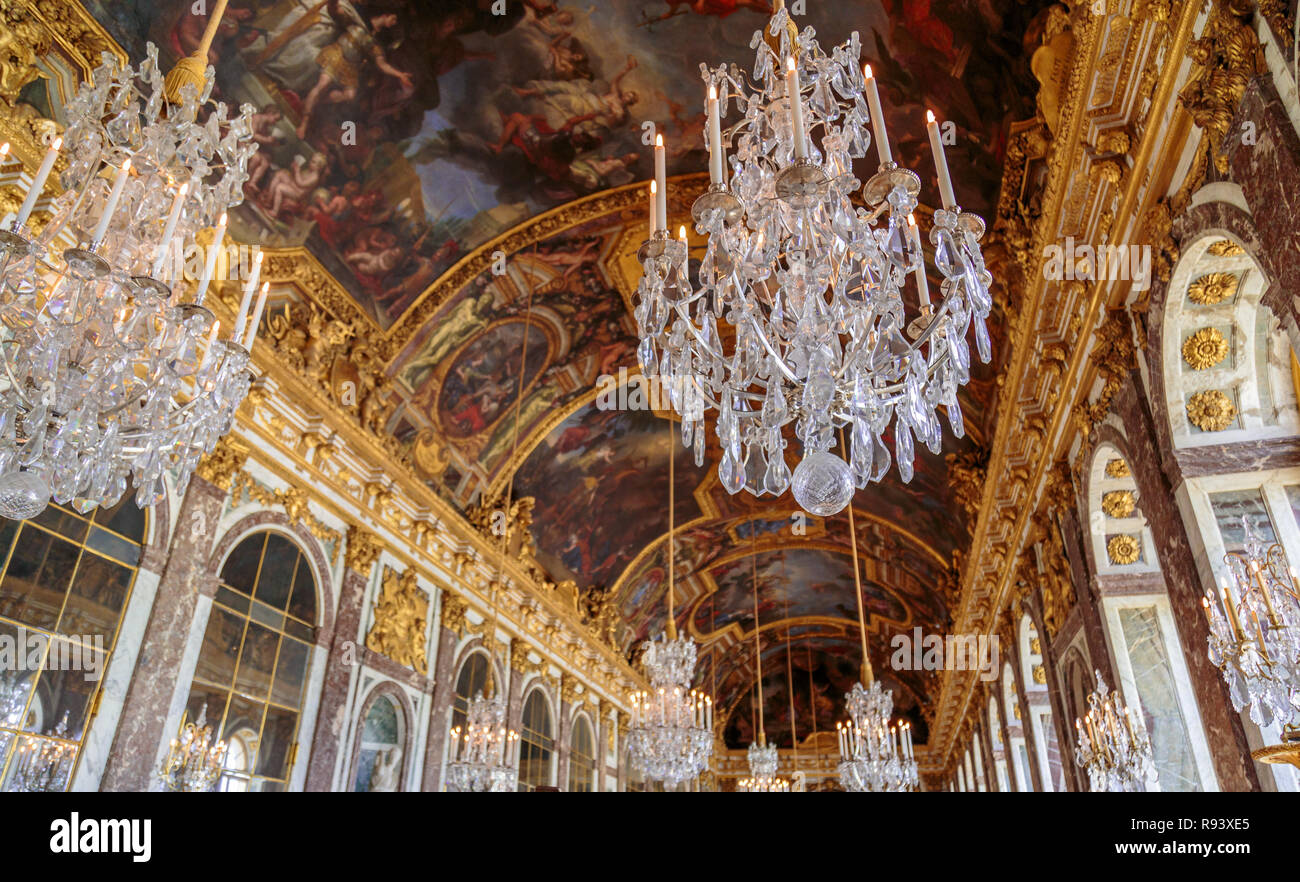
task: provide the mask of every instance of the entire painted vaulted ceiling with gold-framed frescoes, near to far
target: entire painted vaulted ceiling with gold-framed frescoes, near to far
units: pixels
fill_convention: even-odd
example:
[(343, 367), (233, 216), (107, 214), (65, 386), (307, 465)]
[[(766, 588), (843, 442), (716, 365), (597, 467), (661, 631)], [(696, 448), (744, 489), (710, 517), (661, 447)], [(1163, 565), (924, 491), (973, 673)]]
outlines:
[[(86, 5), (133, 57), (159, 44), (164, 66), (205, 23), (192, 0)], [(937, 198), (924, 112), (956, 124), (958, 198), (992, 220), (1009, 124), (1035, 114), (1028, 55), (1048, 5), (807, 0), (798, 21), (823, 48), (859, 33), (896, 159), (920, 172), (926, 204)], [(632, 199), (601, 211), (581, 200), (647, 180), (645, 122), (666, 135), (670, 174), (706, 169), (698, 65), (750, 66), (770, 3), (508, 0), (502, 16), (493, 7), (230, 0), (211, 56), (216, 92), (259, 109), (261, 144), (231, 235), (300, 250), (338, 281), (395, 354), (387, 431), (421, 477), (464, 507), (499, 493), (514, 466), (515, 494), (537, 501), (540, 561), (555, 579), (614, 592), (630, 654), (666, 618), (668, 427), (650, 410), (594, 401), (602, 376), (636, 369), (629, 303), (644, 215), (640, 195), (634, 211)], [(564, 212), (572, 220), (560, 222)], [(477, 272), (476, 250), (506, 241), (504, 272)], [(1008, 356), (1002, 306), (989, 327), (993, 363), (974, 366), (959, 393), (970, 436), (945, 429), (944, 454), (991, 436)], [(696, 467), (675, 449), (677, 623), (715, 637), (701, 676), (719, 680), (719, 704), (733, 709), (728, 739), (751, 736), (755, 532), (760, 619), (781, 623), (786, 601), (798, 619), (762, 632), (775, 660), (763, 669), (768, 736), (789, 738), (779, 710), (789, 701), (786, 635), (794, 667), (805, 679), (812, 671), (811, 692), (796, 683), (797, 718), (815, 705), (818, 725), (833, 727), (826, 696), (840, 705), (861, 656), (848, 518), (807, 518), (797, 531), (788, 494), (732, 497), (716, 480), (716, 450)], [(918, 450), (910, 484), (890, 471), (858, 492), (854, 510), (872, 640), (904, 623), (945, 628), (953, 555), (970, 533), (944, 457)], [(915, 713), (927, 683), (902, 686)]]

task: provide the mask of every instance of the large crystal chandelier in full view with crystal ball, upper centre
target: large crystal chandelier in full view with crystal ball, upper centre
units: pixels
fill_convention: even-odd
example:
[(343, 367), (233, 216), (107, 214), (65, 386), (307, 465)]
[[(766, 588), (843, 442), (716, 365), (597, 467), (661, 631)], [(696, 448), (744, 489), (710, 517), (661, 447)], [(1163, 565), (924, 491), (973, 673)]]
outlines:
[[(692, 207), (708, 237), (694, 286), (685, 228), (676, 241), (667, 229), (666, 159), (656, 139), (651, 232), (638, 252), (638, 356), (642, 371), (667, 386), (698, 464), (705, 412), (718, 411), (718, 475), (729, 493), (781, 494), (793, 483), (805, 510), (831, 515), (848, 505), (854, 485), (889, 471), (883, 438), (890, 425), (904, 481), (913, 476), (914, 437), (941, 450), (940, 405), (953, 433), (963, 434), (957, 389), (970, 380), (965, 338), (972, 325), (980, 358), (991, 356), (984, 221), (956, 204), (931, 113), (944, 206), (930, 232), (944, 280), (932, 303), (913, 217), (920, 178), (893, 161), (876, 81), (858, 61), (858, 34), (827, 56), (811, 27), (797, 35), (777, 1), (767, 34), (757, 31), (751, 47), (760, 88), (734, 65), (701, 65), (711, 185)], [(798, 96), (793, 104), (790, 95)], [(732, 104), (744, 120), (725, 131), (733, 148), (728, 182), (720, 116)], [(853, 160), (867, 152), (868, 120), (880, 167), (862, 187)], [(867, 208), (853, 203), (859, 187)], [(909, 277), (916, 289), (910, 320)], [(793, 476), (781, 434), (792, 421), (803, 446)], [(845, 425), (852, 455), (842, 441), (836, 455), (832, 432)]]

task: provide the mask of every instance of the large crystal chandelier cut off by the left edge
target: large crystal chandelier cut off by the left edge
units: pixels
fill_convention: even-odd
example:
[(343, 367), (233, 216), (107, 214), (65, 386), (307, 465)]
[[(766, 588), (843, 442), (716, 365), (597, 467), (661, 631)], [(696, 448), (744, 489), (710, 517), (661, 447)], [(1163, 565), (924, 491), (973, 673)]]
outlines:
[[(229, 118), (209, 100), (207, 47), (224, 5), (165, 81), (152, 44), (138, 70), (104, 53), (0, 230), (3, 516), (31, 518), (51, 497), (79, 511), (113, 505), (129, 479), (136, 503), (153, 505), (168, 471), (183, 492), (248, 392), (266, 287), (250, 316), (248, 280), (226, 340), (203, 306), (225, 211), (242, 200), (257, 148), (254, 108)], [(34, 235), (29, 219), (60, 151), (64, 194)], [(176, 250), (214, 222), (204, 277), (182, 302)]]

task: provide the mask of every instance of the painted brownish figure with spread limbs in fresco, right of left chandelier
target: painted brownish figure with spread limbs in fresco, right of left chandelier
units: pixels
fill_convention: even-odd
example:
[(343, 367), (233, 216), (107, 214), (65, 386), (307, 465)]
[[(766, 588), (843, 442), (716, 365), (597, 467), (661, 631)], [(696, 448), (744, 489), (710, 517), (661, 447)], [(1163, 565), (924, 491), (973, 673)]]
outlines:
[(389, 62), (377, 39), (380, 33), (398, 26), (395, 12), (380, 13), (367, 20), (352, 4), (343, 0), (329, 0), (328, 8), (330, 18), (338, 27), (338, 36), (316, 55), (320, 75), (303, 103), (303, 116), (298, 124), (299, 138), (307, 137), (312, 114), (322, 98), (332, 104), (356, 99), (358, 87), (364, 82), (363, 74), (368, 65), (395, 79), (402, 86), (403, 95), (410, 96), (415, 92), (411, 74), (398, 70)]

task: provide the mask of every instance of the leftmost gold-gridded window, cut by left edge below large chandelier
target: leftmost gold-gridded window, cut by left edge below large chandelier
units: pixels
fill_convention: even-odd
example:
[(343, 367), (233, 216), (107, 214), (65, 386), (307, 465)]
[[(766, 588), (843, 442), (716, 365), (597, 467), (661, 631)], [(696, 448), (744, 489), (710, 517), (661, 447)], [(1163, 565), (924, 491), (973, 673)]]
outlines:
[(72, 782), (144, 535), (129, 494), (0, 519), (0, 791)]

